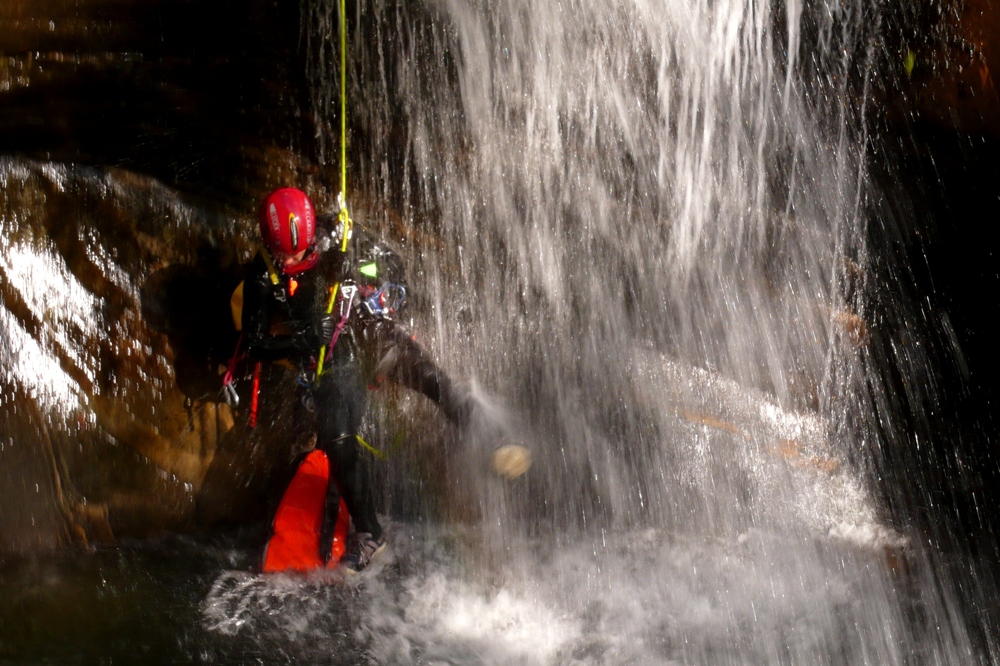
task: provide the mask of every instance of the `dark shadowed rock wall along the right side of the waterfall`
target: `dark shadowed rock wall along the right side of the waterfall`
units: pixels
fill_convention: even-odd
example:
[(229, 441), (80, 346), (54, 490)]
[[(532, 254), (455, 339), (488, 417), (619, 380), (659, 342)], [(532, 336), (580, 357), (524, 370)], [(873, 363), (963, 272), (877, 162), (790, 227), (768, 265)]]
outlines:
[[(889, 288), (872, 310), (888, 311), (878, 301), (893, 298), (919, 307), (907, 320), (874, 325), (872, 353), (922, 339), (940, 360), (932, 376), (914, 375), (926, 403), (897, 403), (912, 450), (887, 457), (883, 482), (896, 486), (890, 495), (917, 499), (914, 520), (928, 533), (954, 522), (974, 549), (992, 549), (1000, 518), (992, 333), (1000, 312), (992, 233), (1000, 219), (1000, 4), (901, 5), (883, 31), (870, 111), (871, 174), (882, 193), (870, 206), (881, 223), (869, 235), (873, 278)], [(897, 396), (912, 400), (911, 387), (894, 381)]]

